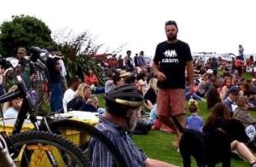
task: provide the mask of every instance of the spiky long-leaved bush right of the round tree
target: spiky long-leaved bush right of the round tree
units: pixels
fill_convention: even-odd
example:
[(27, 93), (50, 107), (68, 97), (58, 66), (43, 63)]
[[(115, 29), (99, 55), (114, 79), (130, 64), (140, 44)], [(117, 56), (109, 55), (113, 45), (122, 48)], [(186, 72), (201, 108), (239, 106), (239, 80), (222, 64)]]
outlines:
[(100, 83), (103, 83), (102, 69), (97, 66), (99, 61), (94, 58), (102, 44), (96, 44), (95, 39), (89, 32), (83, 32), (77, 36), (72, 36), (69, 32), (59, 32), (54, 35), (58, 49), (64, 55), (64, 63), (67, 68), (67, 79), (77, 75), (83, 78), (84, 74), (91, 68)]

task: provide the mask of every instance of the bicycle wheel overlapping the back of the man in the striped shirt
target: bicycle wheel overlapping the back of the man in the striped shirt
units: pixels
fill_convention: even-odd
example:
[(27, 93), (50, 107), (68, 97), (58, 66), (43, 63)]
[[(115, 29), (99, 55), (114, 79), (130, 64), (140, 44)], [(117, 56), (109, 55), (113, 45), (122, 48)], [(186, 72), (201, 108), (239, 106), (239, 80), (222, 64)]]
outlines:
[(100, 130), (97, 130), (95, 127), (89, 124), (72, 119), (58, 119), (50, 122), (49, 128), (54, 133), (65, 135), (65, 138), (67, 138), (69, 141), (79, 145), (84, 151), (84, 154), (87, 155), (87, 159), (89, 159), (87, 150), (88, 141), (90, 140), (90, 137), (94, 137), (96, 141), (101, 142), (102, 145), (108, 149), (108, 153), (111, 153), (113, 156), (114, 164), (116, 166), (128, 166), (125, 164), (125, 159), (121, 156), (119, 150), (113, 145), (112, 141), (110, 141), (106, 135), (103, 135)]

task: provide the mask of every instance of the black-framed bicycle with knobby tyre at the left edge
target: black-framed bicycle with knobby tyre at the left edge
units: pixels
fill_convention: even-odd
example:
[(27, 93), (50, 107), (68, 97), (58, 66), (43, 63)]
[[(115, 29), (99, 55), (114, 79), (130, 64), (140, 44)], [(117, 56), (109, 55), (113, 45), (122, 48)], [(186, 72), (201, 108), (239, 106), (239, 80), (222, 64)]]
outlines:
[[(0, 61), (6, 67), (4, 75), (10, 72), (13, 78), (16, 79), (18, 86), (18, 89), (0, 96), (0, 103), (12, 101), (18, 97), (24, 99), (20, 112), (18, 112), (15, 120), (12, 135), (3, 135), (3, 140), (6, 141), (6, 146), (9, 147), (11, 158), (17, 158), (21, 153), (22, 157), (26, 158), (26, 160), (23, 160), (22, 166), (37, 165), (34, 158), (38, 158), (38, 162), (40, 163), (42, 159), (45, 159), (51, 166), (86, 166), (87, 163), (84, 161), (86, 157), (79, 147), (67, 141), (61, 135), (38, 131), (38, 121), (34, 112), (35, 109), (32, 106), (31, 96), (20, 75), (15, 72), (15, 68), (18, 66), (18, 60), (15, 58), (6, 58)], [(20, 133), (27, 113), (30, 114), (29, 118), (36, 130)], [(26, 155), (27, 150), (29, 150), (29, 155)]]

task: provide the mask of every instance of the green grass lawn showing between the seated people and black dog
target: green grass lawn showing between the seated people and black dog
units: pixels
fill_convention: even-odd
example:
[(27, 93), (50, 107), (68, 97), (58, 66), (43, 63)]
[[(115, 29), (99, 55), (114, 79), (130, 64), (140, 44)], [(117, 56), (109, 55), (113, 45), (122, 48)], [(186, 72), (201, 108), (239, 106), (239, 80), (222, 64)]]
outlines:
[[(102, 96), (99, 98), (101, 107), (104, 107)], [(207, 118), (210, 112), (207, 111), (207, 103), (199, 101), (199, 114), (203, 118)], [(256, 112), (252, 112), (253, 117), (256, 117)], [(148, 135), (132, 135), (132, 139), (137, 146), (143, 149), (149, 158), (160, 159), (162, 161), (182, 166), (183, 160), (180, 153), (172, 147), (172, 141), (175, 140), (175, 135), (161, 132), (159, 130), (152, 130)], [(193, 144), (193, 143), (191, 143)], [(195, 160), (192, 158), (192, 166), (196, 166)], [(221, 166), (218, 164), (218, 166)], [(248, 166), (247, 162), (243, 160), (232, 159), (232, 166)]]

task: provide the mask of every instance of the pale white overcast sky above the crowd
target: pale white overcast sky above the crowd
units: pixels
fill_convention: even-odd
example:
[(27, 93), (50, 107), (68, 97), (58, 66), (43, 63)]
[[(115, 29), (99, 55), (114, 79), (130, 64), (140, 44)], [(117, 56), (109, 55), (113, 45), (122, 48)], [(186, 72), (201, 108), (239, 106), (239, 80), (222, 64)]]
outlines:
[(1, 2), (0, 23), (11, 15), (29, 14), (55, 32), (67, 27), (75, 33), (89, 30), (109, 49), (125, 44), (132, 55), (144, 50), (154, 55), (166, 40), (166, 20), (176, 20), (178, 38), (192, 52), (256, 53), (254, 0), (7, 0)]

